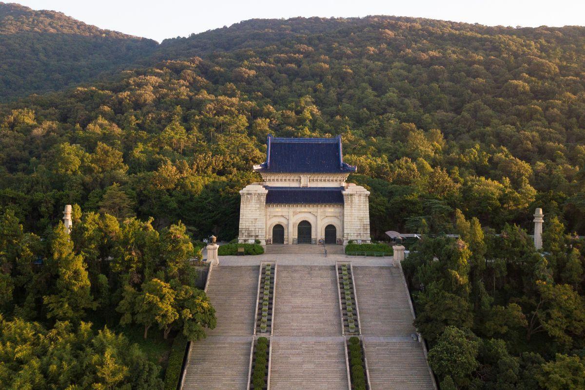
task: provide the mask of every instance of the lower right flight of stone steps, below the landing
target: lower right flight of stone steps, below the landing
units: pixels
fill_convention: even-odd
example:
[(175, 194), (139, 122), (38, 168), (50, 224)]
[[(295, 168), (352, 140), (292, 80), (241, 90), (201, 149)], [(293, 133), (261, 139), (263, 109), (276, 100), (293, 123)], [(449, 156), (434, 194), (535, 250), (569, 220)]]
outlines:
[(373, 390), (433, 390), (422, 345), (418, 341), (365, 341)]

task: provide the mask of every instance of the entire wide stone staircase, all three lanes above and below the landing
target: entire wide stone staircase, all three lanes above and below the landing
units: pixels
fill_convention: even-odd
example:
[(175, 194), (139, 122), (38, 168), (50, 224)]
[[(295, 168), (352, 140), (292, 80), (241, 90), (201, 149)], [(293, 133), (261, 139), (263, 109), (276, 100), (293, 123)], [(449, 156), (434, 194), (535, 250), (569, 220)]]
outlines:
[[(423, 346), (411, 337), (400, 268), (352, 263), (370, 389), (435, 389)], [(349, 389), (335, 272), (334, 265), (277, 265), (271, 390)], [(207, 294), (218, 325), (191, 343), (183, 390), (247, 389), (258, 280), (258, 265), (213, 267)]]

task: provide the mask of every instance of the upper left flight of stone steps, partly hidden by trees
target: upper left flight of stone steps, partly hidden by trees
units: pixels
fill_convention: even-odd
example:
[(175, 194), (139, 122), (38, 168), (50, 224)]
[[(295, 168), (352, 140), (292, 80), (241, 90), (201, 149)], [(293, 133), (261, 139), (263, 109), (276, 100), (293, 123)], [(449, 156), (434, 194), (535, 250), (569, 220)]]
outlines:
[(214, 265), (207, 295), (217, 326), (208, 336), (252, 336), (259, 267)]

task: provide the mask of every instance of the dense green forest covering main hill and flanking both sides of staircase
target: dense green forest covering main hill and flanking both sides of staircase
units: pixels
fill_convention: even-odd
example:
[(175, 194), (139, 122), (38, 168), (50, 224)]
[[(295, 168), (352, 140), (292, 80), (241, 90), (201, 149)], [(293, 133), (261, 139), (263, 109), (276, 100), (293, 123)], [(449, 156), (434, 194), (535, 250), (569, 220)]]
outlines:
[[(169, 313), (195, 305), (214, 326), (187, 277), (191, 241), (237, 236), (238, 191), (259, 180), (267, 134), (341, 134), (358, 167), (349, 181), (371, 191), (372, 237), (425, 233), (404, 267), (442, 390), (583, 388), (584, 47), (585, 27), (249, 20), (165, 40), (144, 54), (152, 65), (6, 103), (0, 229), (19, 238), (0, 240), (2, 337), (99, 339), (110, 330), (84, 324), (108, 307), (124, 333), (150, 323), (202, 337), (189, 319), (155, 322), (140, 296), (156, 292)], [(67, 203), (68, 246), (56, 226)], [(536, 207), (543, 251), (528, 236)], [(116, 383), (157, 378), (133, 384), (118, 359)], [(34, 388), (55, 383), (42, 364), (47, 385)], [(2, 367), (19, 388), (22, 367)]]

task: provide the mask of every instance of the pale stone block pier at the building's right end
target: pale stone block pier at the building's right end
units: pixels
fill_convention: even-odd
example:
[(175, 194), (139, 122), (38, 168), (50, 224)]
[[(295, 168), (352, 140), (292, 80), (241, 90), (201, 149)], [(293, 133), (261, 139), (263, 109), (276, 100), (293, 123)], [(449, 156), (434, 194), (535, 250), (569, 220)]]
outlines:
[(370, 242), (370, 192), (360, 185), (346, 185), (343, 191), (343, 245), (349, 240)]

